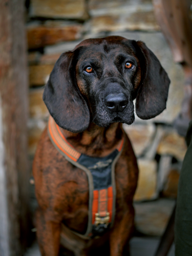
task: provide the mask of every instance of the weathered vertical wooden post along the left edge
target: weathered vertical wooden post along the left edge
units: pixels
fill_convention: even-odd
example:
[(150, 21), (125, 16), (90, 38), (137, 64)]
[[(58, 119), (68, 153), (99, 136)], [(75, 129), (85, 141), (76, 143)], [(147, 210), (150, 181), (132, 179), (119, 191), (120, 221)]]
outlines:
[(0, 255), (20, 256), (29, 234), (28, 73), (24, 1), (0, 1)]

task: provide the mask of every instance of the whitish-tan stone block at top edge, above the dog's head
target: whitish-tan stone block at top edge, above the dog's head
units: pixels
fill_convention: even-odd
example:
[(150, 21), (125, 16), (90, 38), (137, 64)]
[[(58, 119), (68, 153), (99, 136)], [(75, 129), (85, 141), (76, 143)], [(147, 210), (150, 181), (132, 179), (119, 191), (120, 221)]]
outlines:
[(101, 31), (159, 31), (152, 1), (89, 1), (92, 33)]

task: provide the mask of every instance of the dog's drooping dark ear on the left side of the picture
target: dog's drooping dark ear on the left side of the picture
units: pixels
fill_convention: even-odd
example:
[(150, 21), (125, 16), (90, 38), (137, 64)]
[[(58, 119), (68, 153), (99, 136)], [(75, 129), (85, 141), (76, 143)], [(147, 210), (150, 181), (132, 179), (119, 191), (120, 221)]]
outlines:
[(63, 53), (50, 74), (43, 99), (55, 122), (73, 133), (86, 130), (90, 112), (75, 78), (75, 53)]

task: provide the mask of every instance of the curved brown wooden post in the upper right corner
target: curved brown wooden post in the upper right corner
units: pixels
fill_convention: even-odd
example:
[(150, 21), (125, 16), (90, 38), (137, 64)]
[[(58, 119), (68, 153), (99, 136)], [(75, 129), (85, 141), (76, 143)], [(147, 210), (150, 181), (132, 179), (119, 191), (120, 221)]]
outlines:
[(174, 60), (181, 64), (185, 75), (181, 113), (174, 123), (178, 133), (185, 136), (192, 118), (191, 0), (153, 0), (153, 4), (157, 21), (172, 50)]

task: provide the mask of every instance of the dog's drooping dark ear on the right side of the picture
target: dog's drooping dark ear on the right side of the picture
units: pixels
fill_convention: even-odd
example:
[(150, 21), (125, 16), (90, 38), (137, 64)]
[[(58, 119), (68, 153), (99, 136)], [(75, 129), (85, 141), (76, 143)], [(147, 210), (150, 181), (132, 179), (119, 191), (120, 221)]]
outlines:
[(135, 43), (141, 66), (136, 113), (141, 119), (150, 119), (166, 108), (170, 80), (155, 54), (143, 42)]

